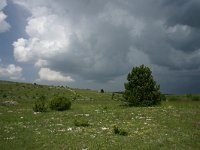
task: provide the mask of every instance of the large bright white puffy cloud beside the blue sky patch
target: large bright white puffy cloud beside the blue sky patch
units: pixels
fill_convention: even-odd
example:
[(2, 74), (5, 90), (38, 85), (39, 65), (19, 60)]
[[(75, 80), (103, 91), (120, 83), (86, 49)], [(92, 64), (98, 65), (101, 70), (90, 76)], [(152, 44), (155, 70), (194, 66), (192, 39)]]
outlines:
[(34, 62), (55, 57), (66, 50), (69, 44), (70, 27), (63, 19), (54, 14), (43, 14), (43, 11), (38, 16), (40, 11), (36, 10), (32, 12), (32, 17), (28, 18), (26, 26), (30, 38), (20, 38), (13, 43), (14, 57), (19, 62)]

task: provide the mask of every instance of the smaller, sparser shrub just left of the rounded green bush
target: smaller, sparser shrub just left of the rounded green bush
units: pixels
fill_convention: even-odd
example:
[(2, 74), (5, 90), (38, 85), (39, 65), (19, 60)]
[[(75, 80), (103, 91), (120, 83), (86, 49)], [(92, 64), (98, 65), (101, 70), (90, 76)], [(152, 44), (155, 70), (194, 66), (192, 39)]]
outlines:
[(37, 99), (33, 105), (33, 111), (34, 112), (46, 112), (48, 109), (46, 104), (46, 97), (40, 96), (39, 99)]

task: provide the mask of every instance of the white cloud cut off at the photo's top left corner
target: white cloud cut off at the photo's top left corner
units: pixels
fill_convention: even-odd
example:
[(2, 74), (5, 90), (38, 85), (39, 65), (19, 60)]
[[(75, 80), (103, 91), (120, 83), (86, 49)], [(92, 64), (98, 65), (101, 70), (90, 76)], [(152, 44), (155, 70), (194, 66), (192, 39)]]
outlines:
[(6, 22), (7, 16), (3, 13), (2, 9), (7, 5), (6, 0), (0, 1), (0, 33), (10, 29), (10, 25)]

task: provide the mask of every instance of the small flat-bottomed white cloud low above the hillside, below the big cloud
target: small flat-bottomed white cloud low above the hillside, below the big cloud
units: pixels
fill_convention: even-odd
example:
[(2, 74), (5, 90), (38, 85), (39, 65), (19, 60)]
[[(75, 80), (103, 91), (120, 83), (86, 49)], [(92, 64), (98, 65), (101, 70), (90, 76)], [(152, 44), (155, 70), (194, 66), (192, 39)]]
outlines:
[(60, 72), (53, 71), (49, 68), (41, 68), (39, 71), (40, 79), (38, 81), (56, 81), (56, 82), (73, 82), (70, 76), (64, 76)]

